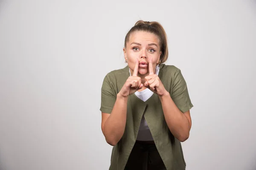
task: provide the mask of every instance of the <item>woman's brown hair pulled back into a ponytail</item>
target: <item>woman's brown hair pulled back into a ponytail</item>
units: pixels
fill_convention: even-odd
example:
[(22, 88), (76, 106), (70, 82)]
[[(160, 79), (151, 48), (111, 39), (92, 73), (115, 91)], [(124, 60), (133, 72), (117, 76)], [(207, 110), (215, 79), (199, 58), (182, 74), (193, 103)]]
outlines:
[(125, 47), (126, 47), (126, 43), (129, 41), (130, 35), (135, 31), (146, 31), (146, 32), (150, 32), (157, 35), (160, 40), (160, 51), (162, 51), (162, 54), (160, 56), (160, 60), (161, 60), (160, 64), (162, 64), (163, 62), (166, 62), (168, 58), (168, 46), (167, 46), (167, 36), (166, 36), (166, 32), (163, 29), (163, 26), (158, 22), (148, 22), (143, 20), (137, 21), (125, 36)]

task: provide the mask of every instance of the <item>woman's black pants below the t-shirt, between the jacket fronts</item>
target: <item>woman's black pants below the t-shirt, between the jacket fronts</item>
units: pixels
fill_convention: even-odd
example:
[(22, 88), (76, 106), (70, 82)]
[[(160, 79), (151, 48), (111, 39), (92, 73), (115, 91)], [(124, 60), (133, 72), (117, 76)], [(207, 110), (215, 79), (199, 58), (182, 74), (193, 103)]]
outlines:
[(135, 142), (125, 170), (166, 170), (155, 144)]

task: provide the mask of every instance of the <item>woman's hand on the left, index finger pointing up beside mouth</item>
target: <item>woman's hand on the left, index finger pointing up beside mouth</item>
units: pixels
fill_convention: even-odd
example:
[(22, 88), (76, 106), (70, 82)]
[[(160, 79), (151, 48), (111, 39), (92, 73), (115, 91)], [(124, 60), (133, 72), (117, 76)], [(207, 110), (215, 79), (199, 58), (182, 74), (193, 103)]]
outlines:
[(137, 90), (143, 87), (141, 83), (141, 78), (137, 76), (139, 69), (139, 60), (136, 59), (136, 64), (134, 67), (134, 72), (132, 76), (128, 77), (122, 89), (119, 91), (119, 95), (122, 97), (128, 97), (131, 94), (134, 94)]

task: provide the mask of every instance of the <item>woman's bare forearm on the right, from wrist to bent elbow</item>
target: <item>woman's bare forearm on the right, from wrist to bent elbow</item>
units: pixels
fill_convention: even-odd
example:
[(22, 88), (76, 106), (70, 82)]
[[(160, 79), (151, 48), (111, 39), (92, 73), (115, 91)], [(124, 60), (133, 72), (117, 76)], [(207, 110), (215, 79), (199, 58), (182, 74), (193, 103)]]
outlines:
[(169, 130), (180, 142), (189, 138), (190, 125), (186, 116), (177, 108), (169, 93), (160, 96), (163, 113)]

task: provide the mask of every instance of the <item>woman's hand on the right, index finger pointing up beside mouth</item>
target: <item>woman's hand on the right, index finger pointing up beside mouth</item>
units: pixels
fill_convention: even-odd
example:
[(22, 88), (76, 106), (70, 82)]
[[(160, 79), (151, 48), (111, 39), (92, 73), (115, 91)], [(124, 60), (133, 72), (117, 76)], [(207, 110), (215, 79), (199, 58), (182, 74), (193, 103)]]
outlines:
[(157, 76), (157, 74), (154, 74), (152, 58), (149, 59), (148, 70), (149, 70), (149, 75), (145, 77), (144, 86), (146, 88), (149, 88), (158, 96), (164, 96), (166, 94), (169, 94), (169, 92), (166, 91), (166, 89), (164, 88), (160, 78)]

